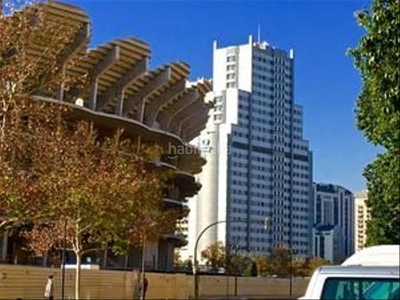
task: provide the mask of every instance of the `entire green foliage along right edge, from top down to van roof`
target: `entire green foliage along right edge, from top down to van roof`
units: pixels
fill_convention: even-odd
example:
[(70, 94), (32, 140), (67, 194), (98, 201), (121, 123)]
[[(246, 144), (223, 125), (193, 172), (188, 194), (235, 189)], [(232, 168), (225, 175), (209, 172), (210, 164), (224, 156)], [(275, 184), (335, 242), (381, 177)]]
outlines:
[(397, 0), (375, 0), (358, 12), (366, 30), (350, 50), (363, 80), (357, 100), (357, 126), (366, 139), (384, 148), (364, 170), (371, 219), (367, 243), (400, 243), (400, 5)]

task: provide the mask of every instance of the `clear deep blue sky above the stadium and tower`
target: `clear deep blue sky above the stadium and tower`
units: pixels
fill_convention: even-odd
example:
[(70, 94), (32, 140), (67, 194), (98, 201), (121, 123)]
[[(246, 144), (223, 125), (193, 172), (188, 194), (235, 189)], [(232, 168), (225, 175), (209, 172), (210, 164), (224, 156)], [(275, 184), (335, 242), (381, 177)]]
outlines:
[(354, 12), (367, 0), (112, 1), (70, 0), (93, 21), (92, 46), (135, 37), (150, 44), (151, 66), (183, 60), (191, 78), (212, 76), (212, 43), (243, 44), (248, 35), (296, 55), (295, 101), (314, 153), (314, 181), (365, 188), (362, 169), (377, 148), (356, 129), (358, 72), (346, 55), (364, 34)]

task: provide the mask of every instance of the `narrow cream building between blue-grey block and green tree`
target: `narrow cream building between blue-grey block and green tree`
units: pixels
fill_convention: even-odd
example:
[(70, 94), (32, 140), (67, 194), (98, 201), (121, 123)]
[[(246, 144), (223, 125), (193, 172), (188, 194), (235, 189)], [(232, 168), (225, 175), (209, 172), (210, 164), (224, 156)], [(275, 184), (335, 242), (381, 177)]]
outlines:
[(354, 237), (356, 252), (364, 249), (367, 242), (367, 221), (370, 218), (366, 203), (367, 200), (367, 191), (354, 193)]

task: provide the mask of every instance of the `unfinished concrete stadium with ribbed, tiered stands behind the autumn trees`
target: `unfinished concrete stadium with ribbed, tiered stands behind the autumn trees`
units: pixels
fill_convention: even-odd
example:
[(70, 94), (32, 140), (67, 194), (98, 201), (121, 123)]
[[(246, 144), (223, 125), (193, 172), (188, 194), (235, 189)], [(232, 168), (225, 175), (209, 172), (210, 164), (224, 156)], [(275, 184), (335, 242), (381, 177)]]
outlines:
[[(123, 128), (124, 133), (138, 144), (156, 144), (164, 149), (183, 149), (173, 155), (163, 155), (154, 164), (174, 170), (174, 182), (165, 191), (165, 209), (182, 207), (186, 198), (200, 189), (194, 175), (201, 172), (205, 160), (197, 148), (188, 144), (205, 128), (208, 106), (204, 102), (211, 90), (210, 82), (188, 82), (189, 66), (174, 62), (149, 70), (150, 47), (135, 38), (118, 39), (89, 49), (91, 20), (78, 7), (55, 2), (46, 4), (49, 18), (73, 27), (70, 44), (56, 59), (60, 72), (67, 75), (89, 76), (89, 85), (76, 97), (74, 87), (49, 94), (44, 91), (37, 99), (68, 105), (75, 120), (92, 121), (101, 132)], [(41, 59), (46, 45), (35, 44), (29, 55)], [(74, 59), (75, 63), (69, 62)], [(177, 220), (178, 221), (178, 220)], [(15, 241), (7, 234), (1, 242), (3, 261), (14, 261)], [(174, 248), (185, 243), (182, 235), (166, 232), (157, 241), (146, 245), (147, 268), (170, 270), (173, 267)], [(134, 250), (127, 257), (109, 257), (104, 267), (137, 268), (142, 253)]]

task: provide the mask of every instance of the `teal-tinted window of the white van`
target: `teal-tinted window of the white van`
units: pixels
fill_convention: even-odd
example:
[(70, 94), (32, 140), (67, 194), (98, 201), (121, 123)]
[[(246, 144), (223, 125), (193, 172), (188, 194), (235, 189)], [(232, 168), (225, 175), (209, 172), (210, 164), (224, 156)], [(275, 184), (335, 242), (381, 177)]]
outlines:
[(328, 278), (321, 299), (397, 300), (399, 286), (396, 278)]

